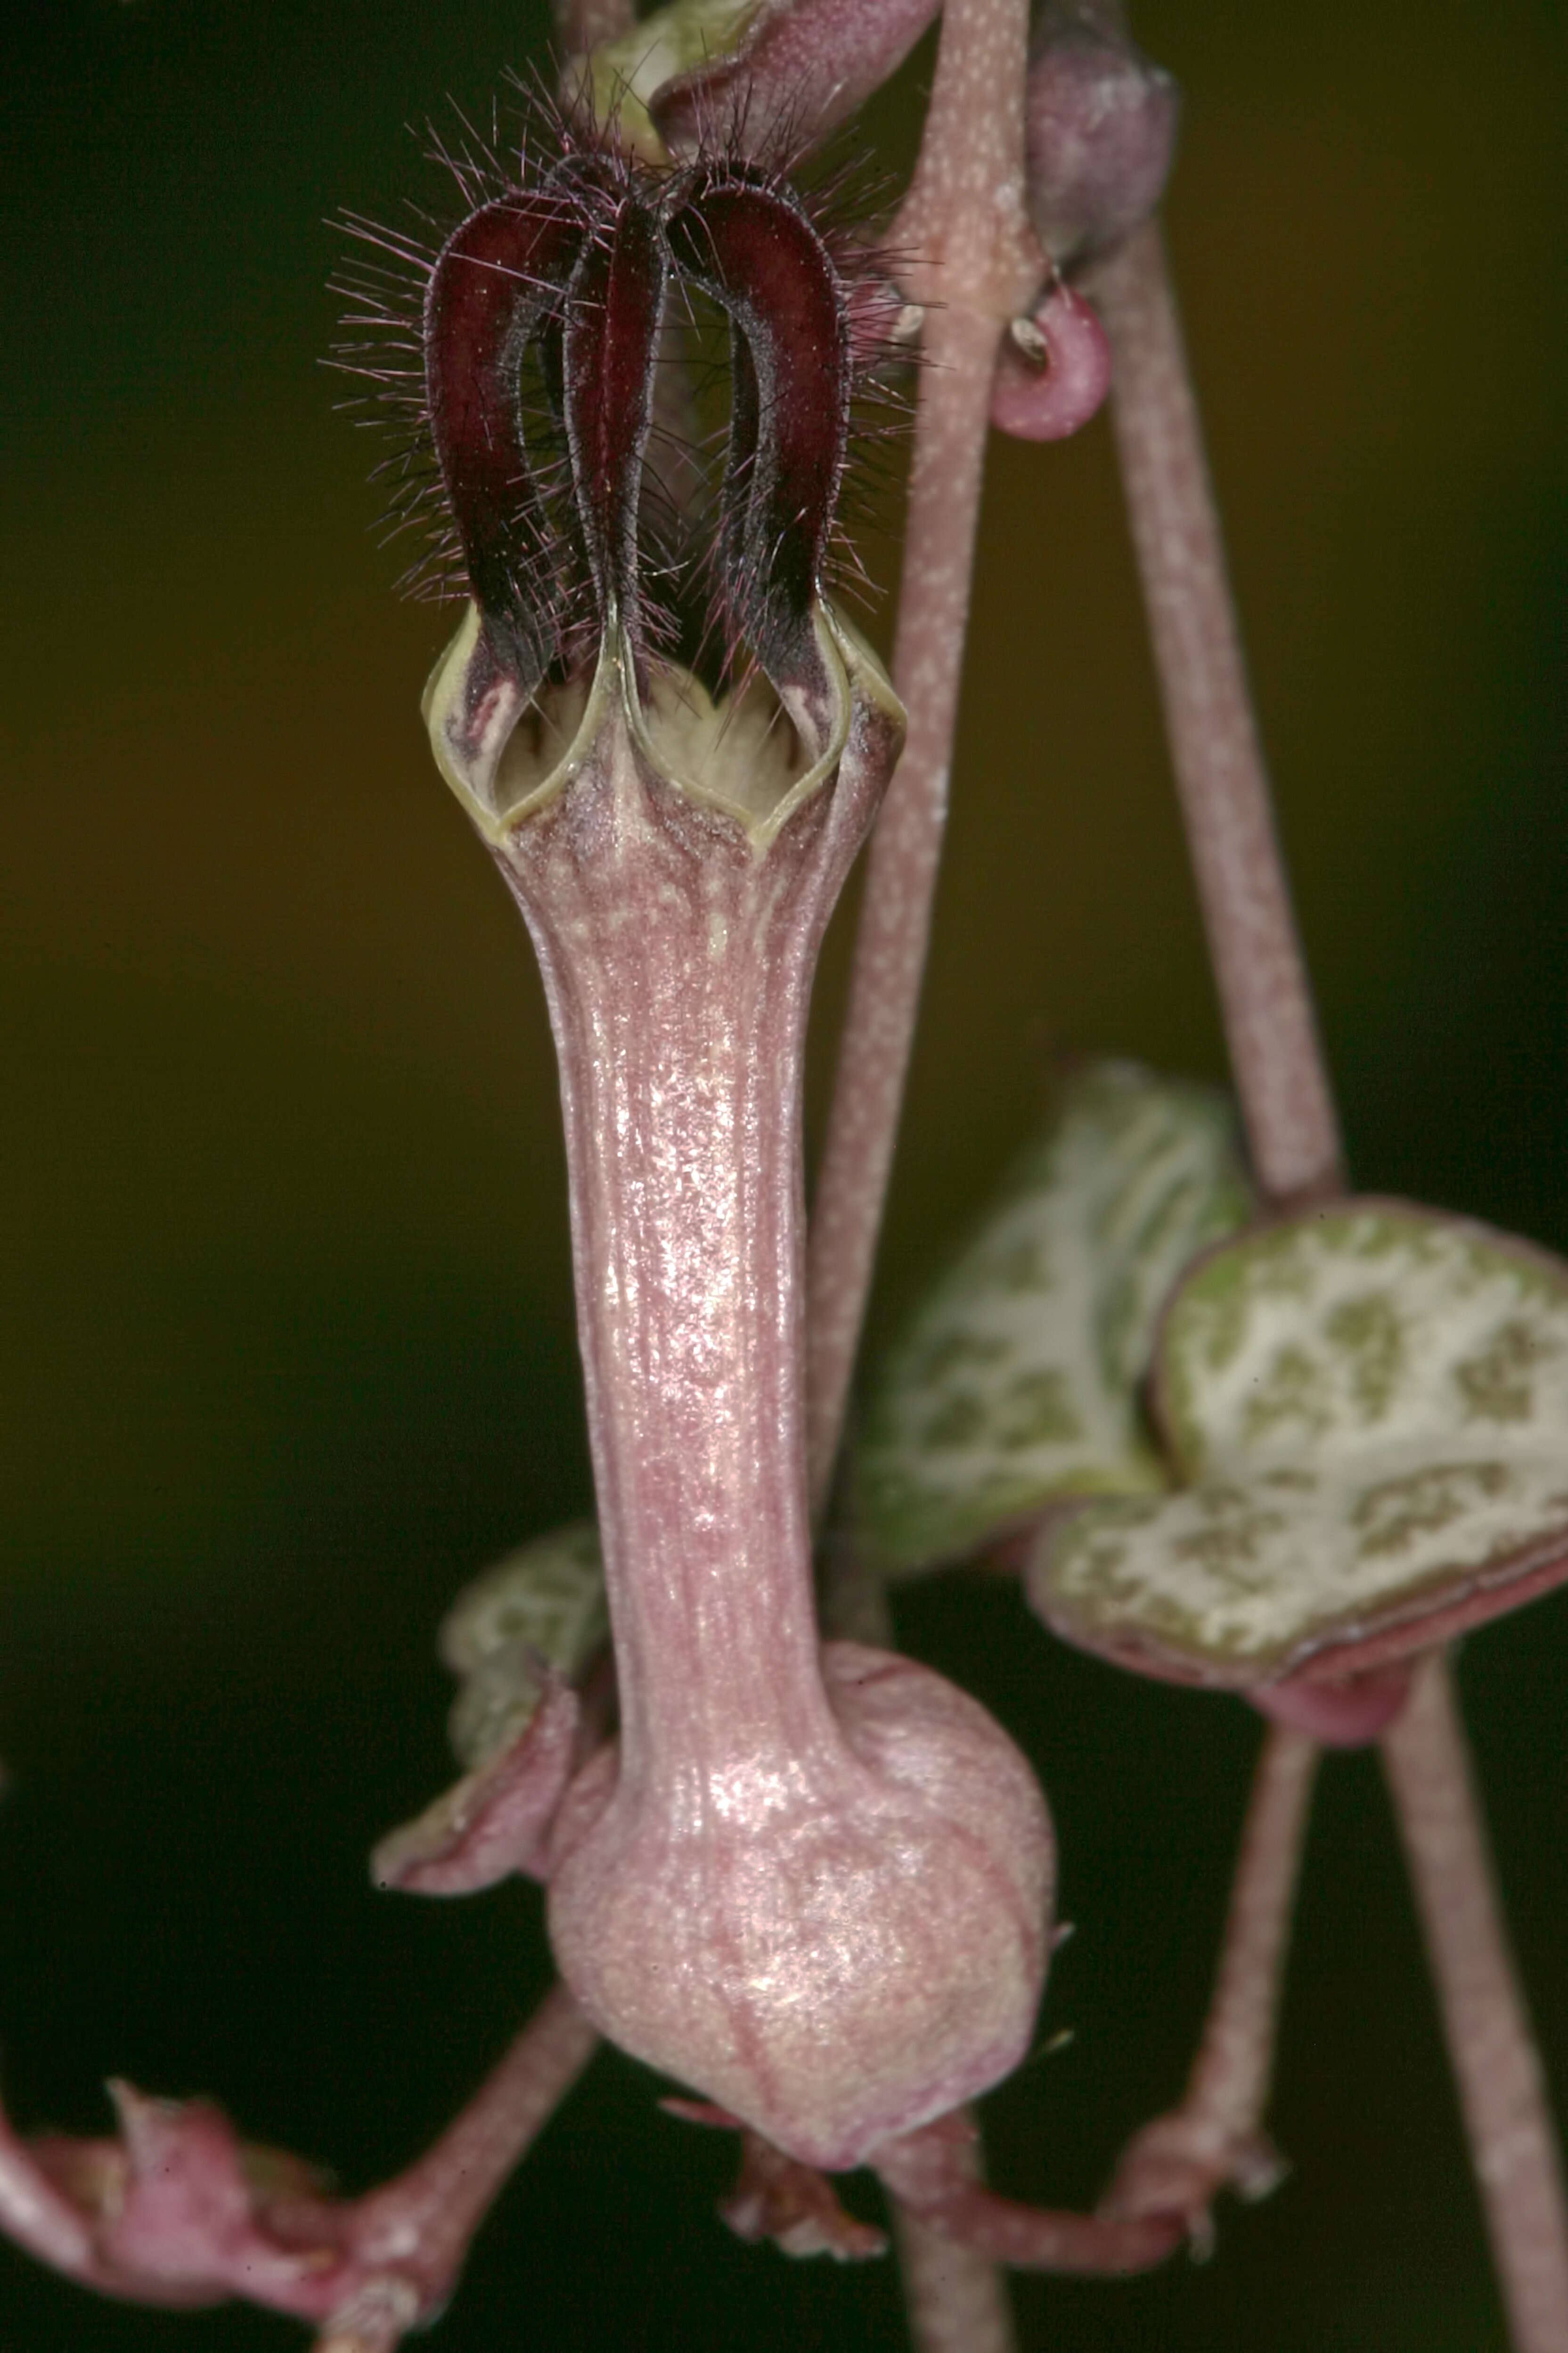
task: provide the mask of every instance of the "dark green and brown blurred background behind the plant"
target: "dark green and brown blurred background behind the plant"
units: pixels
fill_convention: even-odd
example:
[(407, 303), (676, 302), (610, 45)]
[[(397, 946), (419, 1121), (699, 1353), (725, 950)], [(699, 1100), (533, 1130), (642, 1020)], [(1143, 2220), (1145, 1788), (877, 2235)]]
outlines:
[[(1356, 1176), (1568, 1247), (1561, 9), (1138, 24), (1187, 89), (1171, 240)], [(494, 0), (19, 0), (5, 31), (5, 2092), (78, 2132), (110, 2073), (209, 2092), (350, 2188), (548, 1977), (536, 1889), (376, 1897), (364, 1857), (451, 1774), (442, 1607), (588, 1471), (541, 991), (418, 725), (449, 616), (393, 598), (317, 365), (327, 216), (447, 205), (407, 125), (487, 113), (545, 38)], [(929, 71), (872, 108), (893, 169)], [(1222, 1073), (1103, 421), (994, 449), (879, 1329), (1063, 1047)], [(999, 1586), (900, 1626), (1058, 1814), (1074, 2040), (990, 2104), (992, 2148), (1091, 2200), (1180, 2087), (1255, 1727)], [(1568, 1593), (1462, 1664), (1563, 2104), (1566, 1673)], [(898, 2346), (889, 2266), (726, 2238), (731, 2148), (658, 2089), (595, 2061), (440, 2344)], [(1025, 2282), (1027, 2344), (1502, 2346), (1363, 1758), (1324, 1777), (1274, 2125), (1295, 2174), (1206, 2271)], [(0, 2249), (5, 2353), (294, 2341)]]

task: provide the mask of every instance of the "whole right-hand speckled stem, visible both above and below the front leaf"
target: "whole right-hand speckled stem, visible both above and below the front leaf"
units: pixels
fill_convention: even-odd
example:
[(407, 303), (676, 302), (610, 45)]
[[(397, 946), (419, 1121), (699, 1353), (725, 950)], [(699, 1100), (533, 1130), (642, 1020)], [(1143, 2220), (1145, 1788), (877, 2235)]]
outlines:
[[(1159, 228), (1128, 238), (1093, 292), (1112, 341), (1128, 520), (1253, 1165), (1274, 1205), (1300, 1205), (1342, 1181), (1338, 1122)], [(1563, 2191), (1441, 1659), (1382, 1748), (1516, 2346), (1561, 2353)]]

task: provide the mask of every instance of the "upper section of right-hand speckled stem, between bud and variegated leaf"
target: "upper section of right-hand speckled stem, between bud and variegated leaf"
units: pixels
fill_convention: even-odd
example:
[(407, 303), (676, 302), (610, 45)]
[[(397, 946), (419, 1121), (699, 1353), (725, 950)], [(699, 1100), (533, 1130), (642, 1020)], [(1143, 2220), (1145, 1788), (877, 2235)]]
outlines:
[(1220, 518), (1159, 224), (1093, 275), (1112, 424), (1232, 1071), (1262, 1191), (1340, 1186), (1340, 1134), (1295, 936)]

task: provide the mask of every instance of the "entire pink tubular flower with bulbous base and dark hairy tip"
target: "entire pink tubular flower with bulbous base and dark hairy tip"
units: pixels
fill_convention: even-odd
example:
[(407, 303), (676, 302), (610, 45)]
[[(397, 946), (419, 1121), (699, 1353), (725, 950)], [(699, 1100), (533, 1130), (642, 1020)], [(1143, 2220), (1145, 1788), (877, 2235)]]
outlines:
[[(729, 449), (712, 544), (656, 576), (644, 452), (691, 299), (729, 325)], [(1018, 2064), (1051, 1897), (997, 1725), (905, 1659), (823, 1649), (813, 1609), (806, 1007), (903, 744), (823, 593), (851, 346), (825, 242), (741, 162), (569, 158), (430, 280), (473, 607), (425, 708), (550, 1000), (618, 1675), (618, 1741), (541, 1861), (550, 1934), (607, 2035), (827, 2169)]]

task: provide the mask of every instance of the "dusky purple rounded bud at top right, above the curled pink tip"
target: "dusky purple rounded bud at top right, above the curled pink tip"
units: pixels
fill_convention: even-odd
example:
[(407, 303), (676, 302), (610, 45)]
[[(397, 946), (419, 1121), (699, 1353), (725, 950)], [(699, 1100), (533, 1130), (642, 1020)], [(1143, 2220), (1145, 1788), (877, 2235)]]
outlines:
[(1030, 219), (1058, 266), (1150, 219), (1171, 174), (1180, 89), (1105, 0), (1046, 0), (1025, 104)]

